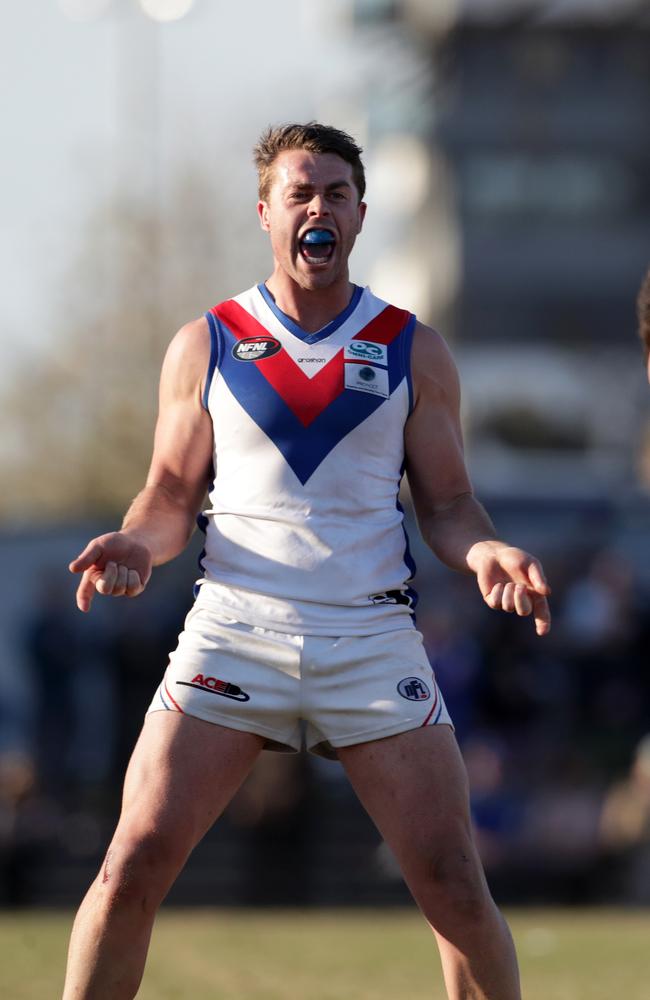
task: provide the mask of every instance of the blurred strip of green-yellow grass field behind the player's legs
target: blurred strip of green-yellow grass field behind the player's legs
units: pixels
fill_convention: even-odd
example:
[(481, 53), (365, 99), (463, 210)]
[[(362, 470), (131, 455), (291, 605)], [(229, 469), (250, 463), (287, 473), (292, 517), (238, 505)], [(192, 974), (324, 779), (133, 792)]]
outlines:
[[(650, 911), (508, 914), (525, 1000), (650, 1000)], [(0, 914), (3, 1000), (56, 1000), (72, 917)], [(141, 1000), (443, 1000), (407, 911), (163, 910)]]

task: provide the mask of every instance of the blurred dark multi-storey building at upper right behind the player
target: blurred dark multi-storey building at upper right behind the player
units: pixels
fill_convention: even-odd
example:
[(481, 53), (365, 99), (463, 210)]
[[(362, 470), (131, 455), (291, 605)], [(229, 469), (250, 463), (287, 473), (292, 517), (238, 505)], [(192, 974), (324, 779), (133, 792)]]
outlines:
[(401, 113), (399, 95), (386, 106), (381, 85), (367, 94), (375, 156), (410, 136), (392, 180), (408, 235), (394, 220), (376, 271), (454, 341), (477, 486), (647, 489), (635, 338), (650, 256), (647, 4), (352, 7), (359, 37), (384, 31), (428, 65), (427, 99), (403, 87)]

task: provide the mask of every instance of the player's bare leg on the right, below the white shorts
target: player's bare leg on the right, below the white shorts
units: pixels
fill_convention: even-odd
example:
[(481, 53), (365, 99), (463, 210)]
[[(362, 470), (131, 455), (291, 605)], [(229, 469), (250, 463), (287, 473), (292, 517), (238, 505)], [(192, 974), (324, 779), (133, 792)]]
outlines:
[(519, 1000), (514, 945), (474, 845), (450, 727), (340, 748), (339, 757), (433, 928), (450, 1000)]

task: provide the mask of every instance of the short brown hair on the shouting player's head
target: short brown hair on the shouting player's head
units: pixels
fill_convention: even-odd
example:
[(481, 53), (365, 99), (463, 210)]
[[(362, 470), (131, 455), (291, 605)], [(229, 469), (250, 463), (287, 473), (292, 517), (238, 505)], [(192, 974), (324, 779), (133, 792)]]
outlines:
[(359, 201), (366, 191), (366, 175), (361, 162), (361, 146), (352, 136), (331, 125), (307, 122), (306, 125), (271, 125), (253, 148), (253, 159), (259, 179), (261, 201), (268, 201), (272, 183), (272, 168), (276, 157), (287, 149), (306, 149), (309, 153), (334, 153), (352, 167), (352, 177), (359, 192)]

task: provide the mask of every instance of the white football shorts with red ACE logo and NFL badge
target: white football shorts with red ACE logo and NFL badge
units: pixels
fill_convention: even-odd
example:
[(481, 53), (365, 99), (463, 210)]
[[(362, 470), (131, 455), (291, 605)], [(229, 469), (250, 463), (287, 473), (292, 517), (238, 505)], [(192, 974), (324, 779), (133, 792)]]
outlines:
[(415, 628), (289, 635), (192, 608), (149, 712), (256, 733), (271, 750), (336, 747), (451, 725)]

